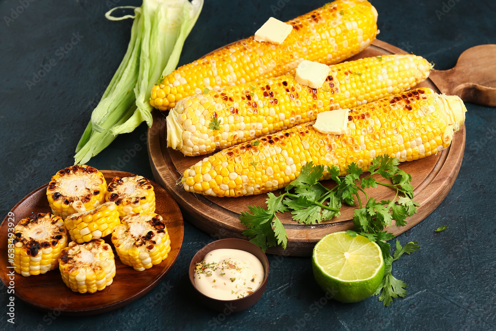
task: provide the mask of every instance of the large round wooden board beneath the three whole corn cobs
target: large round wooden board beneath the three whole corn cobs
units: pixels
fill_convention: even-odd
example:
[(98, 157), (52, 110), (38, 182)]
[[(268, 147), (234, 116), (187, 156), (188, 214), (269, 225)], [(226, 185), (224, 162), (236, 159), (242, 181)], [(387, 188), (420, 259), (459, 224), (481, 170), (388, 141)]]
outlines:
[[(375, 40), (372, 46), (350, 60), (384, 54), (406, 54), (403, 50), (387, 43)], [(417, 87), (430, 87), (439, 92), (432, 80), (427, 79)], [(455, 133), (449, 148), (425, 159), (404, 162), (400, 168), (412, 175), (415, 201), (420, 203), (417, 213), (409, 217), (403, 227), (388, 228), (398, 235), (429, 215), (446, 197), (458, 175), (465, 148), (465, 127)], [(242, 211), (249, 205), (265, 206), (267, 195), (242, 198), (216, 198), (191, 194), (181, 185), (176, 185), (184, 170), (205, 156), (187, 157), (181, 152), (167, 148), (165, 114), (154, 112), (153, 126), (148, 130), (148, 155), (155, 179), (164, 185), (178, 201), (185, 212), (186, 219), (214, 238), (246, 238), (242, 232), (246, 229), (239, 221)], [(323, 183), (330, 185), (330, 183)], [(372, 189), (372, 196), (377, 199), (392, 199), (394, 194), (385, 187)], [(343, 206), (341, 216), (320, 224), (299, 224), (286, 212), (278, 217), (288, 233), (288, 245), (284, 251), (281, 247), (270, 248), (267, 253), (292, 256), (310, 256), (315, 243), (324, 235), (353, 228), (351, 221), (354, 207)]]

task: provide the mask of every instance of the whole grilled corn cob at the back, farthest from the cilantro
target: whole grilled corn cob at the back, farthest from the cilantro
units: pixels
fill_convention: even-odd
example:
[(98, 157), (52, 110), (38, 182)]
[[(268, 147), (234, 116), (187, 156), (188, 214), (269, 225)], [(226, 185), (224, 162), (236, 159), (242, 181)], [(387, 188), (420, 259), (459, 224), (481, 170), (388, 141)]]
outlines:
[(153, 86), (150, 104), (168, 110), (205, 88), (294, 73), (302, 60), (339, 63), (372, 43), (376, 21), (377, 11), (368, 1), (328, 3), (288, 21), (293, 30), (280, 45), (257, 42), (251, 36), (179, 67)]

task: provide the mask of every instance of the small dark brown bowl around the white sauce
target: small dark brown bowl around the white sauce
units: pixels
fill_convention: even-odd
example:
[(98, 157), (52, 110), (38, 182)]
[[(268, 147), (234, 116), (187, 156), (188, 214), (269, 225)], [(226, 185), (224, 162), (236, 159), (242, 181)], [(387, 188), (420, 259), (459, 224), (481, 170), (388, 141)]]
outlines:
[[(196, 285), (194, 284), (194, 272), (196, 270), (196, 264), (202, 262), (205, 258), (205, 255), (207, 255), (209, 252), (223, 248), (242, 250), (251, 253), (258, 260), (260, 260), (263, 265), (265, 276), (263, 277), (262, 284), (253, 293), (244, 298), (234, 300), (214, 299), (198, 291)], [(267, 260), (267, 257), (258, 246), (244, 239), (229, 238), (214, 241), (199, 250), (193, 257), (193, 259), (191, 259), (191, 263), (189, 264), (189, 280), (191, 281), (191, 285), (193, 285), (194, 289), (196, 290), (200, 302), (202, 302), (205, 306), (219, 312), (240, 312), (253, 306), (260, 299), (263, 292), (265, 291), (268, 275), (269, 261)]]

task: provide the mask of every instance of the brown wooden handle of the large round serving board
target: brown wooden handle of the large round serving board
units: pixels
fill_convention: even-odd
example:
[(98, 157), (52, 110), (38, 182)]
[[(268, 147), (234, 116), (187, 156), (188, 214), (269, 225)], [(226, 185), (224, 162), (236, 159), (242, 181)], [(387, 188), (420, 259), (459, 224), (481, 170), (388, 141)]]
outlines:
[(449, 70), (432, 70), (431, 78), (442, 93), (463, 101), (496, 107), (496, 45), (469, 48)]

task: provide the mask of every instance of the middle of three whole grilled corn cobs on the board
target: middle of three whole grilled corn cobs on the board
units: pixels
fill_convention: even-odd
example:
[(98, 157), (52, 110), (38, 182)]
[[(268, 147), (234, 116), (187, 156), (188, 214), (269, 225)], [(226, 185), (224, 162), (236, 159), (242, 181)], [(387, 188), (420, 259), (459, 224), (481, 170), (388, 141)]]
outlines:
[(322, 88), (294, 75), (262, 79), (179, 101), (167, 117), (168, 146), (186, 156), (314, 121), (317, 113), (351, 108), (397, 94), (429, 76), (431, 65), (415, 55), (383, 55), (329, 66)]

